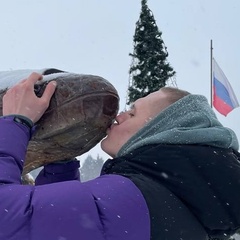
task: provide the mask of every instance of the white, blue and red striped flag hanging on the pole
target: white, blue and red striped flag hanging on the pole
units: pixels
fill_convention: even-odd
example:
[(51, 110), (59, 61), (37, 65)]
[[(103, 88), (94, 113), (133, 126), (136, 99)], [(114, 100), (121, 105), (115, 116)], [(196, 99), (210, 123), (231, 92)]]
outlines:
[(234, 108), (239, 107), (238, 100), (233, 89), (213, 58), (213, 106), (224, 116), (227, 116)]

